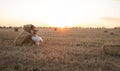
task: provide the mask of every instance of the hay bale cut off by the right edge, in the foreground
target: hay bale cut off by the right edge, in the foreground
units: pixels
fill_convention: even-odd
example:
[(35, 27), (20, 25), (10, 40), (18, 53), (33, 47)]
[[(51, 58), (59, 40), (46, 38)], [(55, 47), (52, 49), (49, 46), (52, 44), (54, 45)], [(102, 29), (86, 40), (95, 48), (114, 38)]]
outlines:
[(109, 55), (120, 56), (120, 44), (105, 44), (103, 52)]

